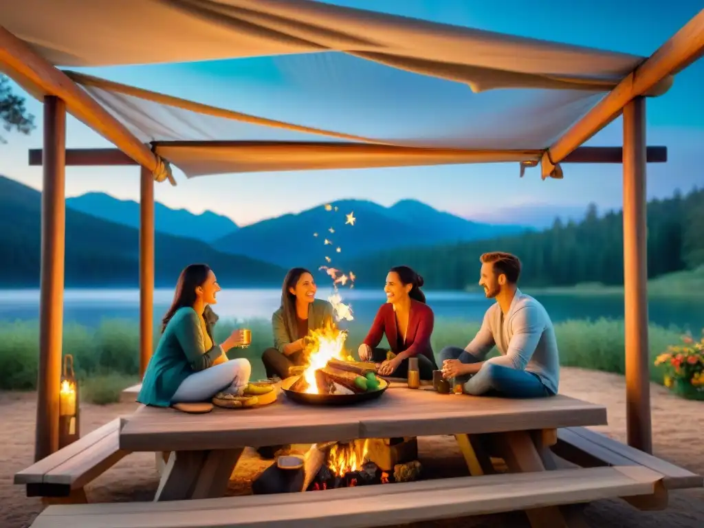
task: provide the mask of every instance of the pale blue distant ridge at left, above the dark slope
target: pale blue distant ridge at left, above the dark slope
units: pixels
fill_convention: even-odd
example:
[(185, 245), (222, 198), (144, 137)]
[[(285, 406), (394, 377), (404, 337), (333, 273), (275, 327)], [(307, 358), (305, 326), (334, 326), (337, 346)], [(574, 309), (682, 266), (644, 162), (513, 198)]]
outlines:
[[(139, 203), (120, 200), (102, 192), (89, 192), (66, 199), (66, 206), (117, 224), (139, 228)], [(154, 225), (157, 232), (212, 242), (237, 231), (227, 216), (209, 210), (196, 215), (185, 209), (172, 209), (156, 202)]]

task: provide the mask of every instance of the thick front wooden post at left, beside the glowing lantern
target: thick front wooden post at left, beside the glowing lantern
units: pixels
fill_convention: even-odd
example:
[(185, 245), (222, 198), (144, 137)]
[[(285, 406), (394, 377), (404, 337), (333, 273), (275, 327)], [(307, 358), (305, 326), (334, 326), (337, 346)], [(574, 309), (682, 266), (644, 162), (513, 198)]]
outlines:
[(34, 461), (58, 449), (58, 391), (63, 337), (66, 106), (44, 98), (42, 271), (39, 296), (39, 373)]

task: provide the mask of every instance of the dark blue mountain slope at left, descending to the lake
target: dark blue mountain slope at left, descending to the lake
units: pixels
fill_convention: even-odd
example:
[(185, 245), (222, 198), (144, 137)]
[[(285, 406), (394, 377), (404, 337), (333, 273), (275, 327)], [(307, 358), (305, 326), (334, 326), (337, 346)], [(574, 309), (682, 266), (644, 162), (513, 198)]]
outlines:
[[(0, 176), (0, 287), (39, 285), (41, 206), (39, 191)], [(139, 284), (137, 229), (73, 208), (66, 208), (65, 225), (67, 287)], [(157, 286), (173, 287), (180, 271), (193, 262), (208, 263), (220, 284), (230, 287), (279, 286), (285, 274), (277, 265), (172, 234), (156, 233), (155, 253)]]

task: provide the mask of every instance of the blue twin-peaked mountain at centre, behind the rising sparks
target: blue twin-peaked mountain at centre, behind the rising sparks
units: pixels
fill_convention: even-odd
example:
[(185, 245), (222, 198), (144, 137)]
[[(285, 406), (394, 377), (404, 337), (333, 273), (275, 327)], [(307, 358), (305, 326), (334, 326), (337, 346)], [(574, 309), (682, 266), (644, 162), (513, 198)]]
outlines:
[[(526, 230), (517, 225), (471, 222), (413, 200), (399, 201), (389, 208), (364, 200), (340, 200), (333, 205), (337, 211), (325, 210), (321, 204), (241, 227), (214, 241), (213, 246), (284, 267), (312, 266), (325, 263), (325, 256), (339, 262), (376, 251), (487, 239)], [(346, 224), (349, 213), (356, 218), (353, 226)], [(325, 244), (326, 239), (331, 244)]]

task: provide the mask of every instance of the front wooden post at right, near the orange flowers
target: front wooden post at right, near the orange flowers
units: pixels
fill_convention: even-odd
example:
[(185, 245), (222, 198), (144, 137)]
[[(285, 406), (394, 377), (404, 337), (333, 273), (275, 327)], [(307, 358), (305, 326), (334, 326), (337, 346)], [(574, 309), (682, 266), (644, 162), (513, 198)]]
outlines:
[(646, 239), (646, 100), (623, 111), (623, 263), (626, 342), (626, 423), (629, 446), (652, 453), (648, 365)]

